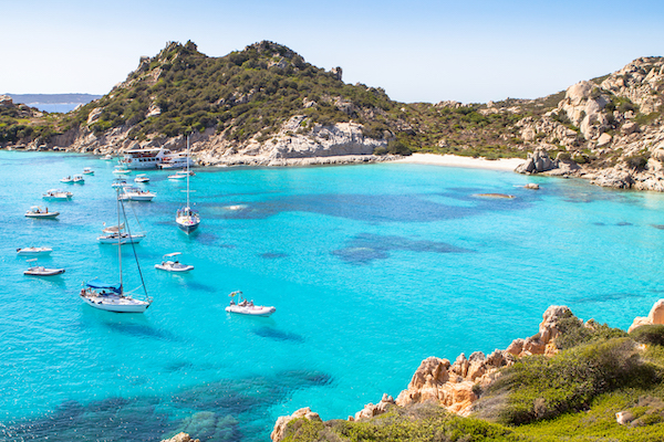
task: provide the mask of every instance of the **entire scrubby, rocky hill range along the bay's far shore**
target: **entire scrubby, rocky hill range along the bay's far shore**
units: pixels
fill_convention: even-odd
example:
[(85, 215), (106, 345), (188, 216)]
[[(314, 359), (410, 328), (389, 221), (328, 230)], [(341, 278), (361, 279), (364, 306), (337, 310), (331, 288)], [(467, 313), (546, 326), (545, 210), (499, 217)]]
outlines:
[(538, 99), (406, 104), (380, 87), (346, 84), (341, 67), (319, 69), (277, 43), (209, 57), (193, 42), (172, 42), (107, 95), (64, 116), (19, 116), (3, 98), (0, 146), (177, 150), (190, 133), (204, 165), (531, 155), (521, 171), (662, 191), (663, 92), (664, 59), (642, 57)]

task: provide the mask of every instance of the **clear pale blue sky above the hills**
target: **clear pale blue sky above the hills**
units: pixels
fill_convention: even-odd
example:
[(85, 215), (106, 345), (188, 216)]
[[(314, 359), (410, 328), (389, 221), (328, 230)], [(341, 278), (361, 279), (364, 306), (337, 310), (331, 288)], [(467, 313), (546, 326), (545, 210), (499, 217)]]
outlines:
[(664, 55), (664, 1), (0, 0), (0, 93), (105, 94), (142, 55), (261, 40), (401, 102), (537, 98)]

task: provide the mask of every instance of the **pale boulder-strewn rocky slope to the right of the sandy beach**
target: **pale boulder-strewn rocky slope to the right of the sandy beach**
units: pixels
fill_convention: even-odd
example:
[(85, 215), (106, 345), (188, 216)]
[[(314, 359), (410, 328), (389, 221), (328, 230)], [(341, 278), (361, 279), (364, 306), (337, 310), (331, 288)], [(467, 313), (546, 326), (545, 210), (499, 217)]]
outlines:
[[(664, 191), (664, 59), (642, 57), (570, 86), (557, 108), (518, 123), (523, 141), (578, 167), (548, 171), (613, 188)], [(540, 172), (540, 170), (518, 170)]]

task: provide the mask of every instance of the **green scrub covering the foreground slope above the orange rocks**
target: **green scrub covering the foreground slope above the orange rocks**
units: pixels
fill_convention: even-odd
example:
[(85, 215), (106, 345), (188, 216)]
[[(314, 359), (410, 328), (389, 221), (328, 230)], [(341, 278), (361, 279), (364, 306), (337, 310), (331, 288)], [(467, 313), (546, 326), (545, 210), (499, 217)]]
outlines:
[[(664, 434), (664, 326), (627, 335), (571, 316), (553, 357), (523, 357), (480, 391), (470, 418), (435, 403), (367, 421), (298, 419), (284, 442), (656, 441)], [(626, 424), (616, 413), (630, 415)]]

